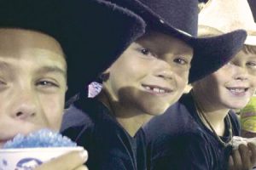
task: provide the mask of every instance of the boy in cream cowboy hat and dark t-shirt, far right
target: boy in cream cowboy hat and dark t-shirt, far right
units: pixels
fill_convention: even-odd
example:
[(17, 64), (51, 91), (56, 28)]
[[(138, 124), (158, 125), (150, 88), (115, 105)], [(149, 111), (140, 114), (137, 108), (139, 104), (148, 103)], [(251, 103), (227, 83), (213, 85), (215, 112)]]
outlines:
[(232, 109), (244, 107), (256, 89), (253, 14), (244, 0), (210, 0), (199, 14), (199, 26), (199, 32), (212, 33), (242, 28), (247, 39), (228, 64), (193, 82), (189, 94), (143, 127), (150, 141), (148, 169), (251, 169), (254, 144), (232, 151), (233, 136), (241, 131)]

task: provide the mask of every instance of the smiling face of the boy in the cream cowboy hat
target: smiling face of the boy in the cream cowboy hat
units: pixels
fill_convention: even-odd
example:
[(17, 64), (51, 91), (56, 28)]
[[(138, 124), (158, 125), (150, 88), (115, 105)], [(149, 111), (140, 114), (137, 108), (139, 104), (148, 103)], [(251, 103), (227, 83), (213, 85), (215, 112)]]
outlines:
[(243, 48), (230, 63), (196, 82), (194, 88), (215, 108), (243, 108), (256, 88), (256, 54)]

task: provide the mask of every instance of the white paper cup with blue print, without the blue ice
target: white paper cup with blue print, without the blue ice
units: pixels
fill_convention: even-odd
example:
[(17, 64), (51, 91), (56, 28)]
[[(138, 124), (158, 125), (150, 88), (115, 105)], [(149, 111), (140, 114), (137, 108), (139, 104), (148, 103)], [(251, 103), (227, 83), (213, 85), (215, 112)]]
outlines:
[(45, 161), (83, 147), (21, 148), (0, 150), (0, 170), (32, 170)]

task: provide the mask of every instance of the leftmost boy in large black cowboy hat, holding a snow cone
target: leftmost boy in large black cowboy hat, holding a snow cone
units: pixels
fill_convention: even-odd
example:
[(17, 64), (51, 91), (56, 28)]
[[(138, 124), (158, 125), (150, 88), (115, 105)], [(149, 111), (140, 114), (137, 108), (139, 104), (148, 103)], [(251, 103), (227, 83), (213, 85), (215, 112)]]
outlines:
[[(0, 148), (17, 133), (58, 131), (66, 91), (84, 88), (143, 31), (112, 3), (0, 0)], [(86, 159), (74, 152), (37, 169), (85, 169)]]

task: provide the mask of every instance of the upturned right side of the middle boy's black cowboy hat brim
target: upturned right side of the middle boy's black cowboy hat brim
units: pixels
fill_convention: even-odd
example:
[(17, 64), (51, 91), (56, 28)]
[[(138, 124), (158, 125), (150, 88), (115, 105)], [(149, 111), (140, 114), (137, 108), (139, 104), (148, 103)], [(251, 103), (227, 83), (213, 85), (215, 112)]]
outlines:
[(237, 30), (215, 37), (191, 39), (194, 57), (189, 71), (189, 83), (218, 71), (243, 47), (246, 31)]

